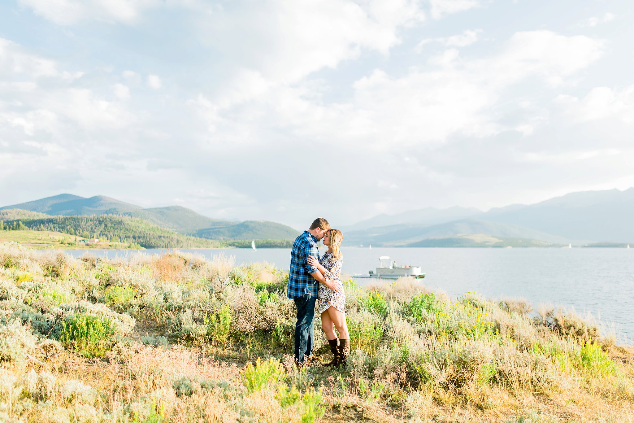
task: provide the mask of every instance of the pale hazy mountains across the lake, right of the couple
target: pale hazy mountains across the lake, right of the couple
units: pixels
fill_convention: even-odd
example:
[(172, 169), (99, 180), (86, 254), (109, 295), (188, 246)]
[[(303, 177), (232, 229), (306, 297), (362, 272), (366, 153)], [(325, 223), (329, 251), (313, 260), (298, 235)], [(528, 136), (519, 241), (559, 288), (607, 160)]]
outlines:
[(585, 245), (634, 242), (633, 216), (634, 188), (630, 188), (569, 193), (537, 204), (512, 204), (487, 212), (458, 206), (427, 207), (380, 214), (342, 230), (346, 245), (418, 246), (423, 240), (465, 234)]

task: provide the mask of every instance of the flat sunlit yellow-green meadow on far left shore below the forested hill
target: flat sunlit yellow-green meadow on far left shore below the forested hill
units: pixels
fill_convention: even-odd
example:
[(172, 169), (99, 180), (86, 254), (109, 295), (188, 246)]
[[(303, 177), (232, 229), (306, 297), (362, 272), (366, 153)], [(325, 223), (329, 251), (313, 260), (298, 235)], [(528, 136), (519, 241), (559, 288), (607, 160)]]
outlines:
[(123, 242), (101, 241), (98, 244), (79, 242), (84, 238), (70, 235), (70, 233), (51, 231), (0, 231), (1, 242), (17, 242), (32, 249), (56, 250), (127, 250), (138, 249)]

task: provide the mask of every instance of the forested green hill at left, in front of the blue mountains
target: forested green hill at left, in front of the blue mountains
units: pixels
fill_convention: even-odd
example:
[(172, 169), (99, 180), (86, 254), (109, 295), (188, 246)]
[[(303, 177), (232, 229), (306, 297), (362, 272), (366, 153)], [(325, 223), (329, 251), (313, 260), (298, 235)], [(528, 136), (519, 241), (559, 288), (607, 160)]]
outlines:
[[(160, 228), (147, 221), (127, 216), (48, 216), (20, 219), (31, 230), (56, 231), (84, 238), (105, 238), (114, 242), (139, 244), (145, 248), (215, 248), (217, 241), (190, 237)], [(11, 225), (12, 221), (5, 222)]]

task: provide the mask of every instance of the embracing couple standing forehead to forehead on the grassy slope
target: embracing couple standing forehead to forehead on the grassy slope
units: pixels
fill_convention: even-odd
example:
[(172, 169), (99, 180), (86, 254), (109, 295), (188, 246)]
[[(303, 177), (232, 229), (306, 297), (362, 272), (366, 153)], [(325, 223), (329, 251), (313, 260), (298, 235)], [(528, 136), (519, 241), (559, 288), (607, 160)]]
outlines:
[[(331, 229), (326, 219), (313, 221), (293, 244), (290, 252), (287, 297), (297, 306), (295, 323), (295, 361), (313, 360), (315, 303), (321, 315), (321, 327), (328, 338), (334, 358), (327, 365), (340, 367), (350, 353), (350, 335), (346, 325), (344, 303), (346, 294), (341, 283), (341, 231)], [(317, 242), (323, 242), (328, 251), (320, 258)], [(339, 339), (333, 329), (339, 332)]]

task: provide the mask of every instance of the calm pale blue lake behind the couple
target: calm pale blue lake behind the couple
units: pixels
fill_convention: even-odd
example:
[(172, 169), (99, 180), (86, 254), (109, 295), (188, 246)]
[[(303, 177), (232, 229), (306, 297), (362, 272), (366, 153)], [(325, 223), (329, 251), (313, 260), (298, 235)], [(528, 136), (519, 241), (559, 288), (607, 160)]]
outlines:
[[(145, 250), (160, 254), (165, 250)], [(212, 256), (234, 256), (236, 264), (268, 261), (287, 270), (290, 249), (195, 249)], [(324, 250), (321, 250), (322, 252)], [(137, 251), (89, 251), (97, 256), (127, 256)], [(590, 312), (604, 323), (614, 323), (623, 342), (634, 337), (634, 249), (619, 248), (383, 248), (344, 247), (344, 273), (367, 275), (379, 256), (391, 256), (397, 264), (413, 264), (427, 273), (425, 285), (444, 290), (451, 297), (468, 291), (486, 297), (526, 297), (540, 303), (574, 307)], [(86, 251), (68, 251), (81, 256)], [(359, 279), (368, 283), (370, 279)], [(626, 341), (624, 337), (627, 337)]]

